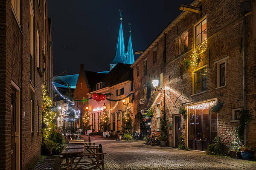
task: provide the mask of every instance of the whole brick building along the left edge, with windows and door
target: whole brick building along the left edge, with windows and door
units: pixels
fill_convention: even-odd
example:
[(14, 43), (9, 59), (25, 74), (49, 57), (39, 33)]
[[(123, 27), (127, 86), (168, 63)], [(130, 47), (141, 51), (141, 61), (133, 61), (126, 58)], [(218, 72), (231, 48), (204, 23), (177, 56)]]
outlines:
[(46, 0), (1, 0), (0, 169), (26, 170), (41, 153), (42, 84), (52, 95)]

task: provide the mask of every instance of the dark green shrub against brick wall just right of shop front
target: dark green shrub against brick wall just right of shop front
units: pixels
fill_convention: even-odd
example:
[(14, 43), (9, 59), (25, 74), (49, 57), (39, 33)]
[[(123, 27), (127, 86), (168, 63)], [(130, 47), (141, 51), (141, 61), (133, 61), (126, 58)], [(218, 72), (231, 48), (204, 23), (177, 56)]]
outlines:
[(214, 144), (209, 144), (207, 147), (207, 154), (211, 155), (224, 155), (224, 145), (221, 136), (216, 136), (213, 139)]

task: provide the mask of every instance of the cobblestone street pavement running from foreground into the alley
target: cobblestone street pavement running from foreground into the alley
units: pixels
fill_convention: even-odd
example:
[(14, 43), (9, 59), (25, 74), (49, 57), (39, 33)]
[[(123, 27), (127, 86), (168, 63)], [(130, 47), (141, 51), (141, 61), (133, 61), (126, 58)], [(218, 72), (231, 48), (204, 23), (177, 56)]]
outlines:
[(107, 152), (107, 170), (256, 170), (255, 161), (150, 146), (143, 141), (114, 141), (96, 136), (91, 137), (91, 142), (102, 144)]

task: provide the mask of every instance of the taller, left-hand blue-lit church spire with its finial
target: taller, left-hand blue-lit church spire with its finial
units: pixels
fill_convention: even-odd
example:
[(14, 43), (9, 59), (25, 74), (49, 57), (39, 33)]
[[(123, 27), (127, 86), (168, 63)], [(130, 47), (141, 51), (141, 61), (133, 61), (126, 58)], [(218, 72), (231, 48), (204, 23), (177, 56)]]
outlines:
[(119, 35), (116, 43), (116, 56), (113, 61), (110, 63), (110, 70), (118, 63), (126, 63), (126, 56), (125, 56), (125, 42), (124, 42), (124, 35), (122, 31), (122, 14), (120, 12), (120, 28), (119, 28)]

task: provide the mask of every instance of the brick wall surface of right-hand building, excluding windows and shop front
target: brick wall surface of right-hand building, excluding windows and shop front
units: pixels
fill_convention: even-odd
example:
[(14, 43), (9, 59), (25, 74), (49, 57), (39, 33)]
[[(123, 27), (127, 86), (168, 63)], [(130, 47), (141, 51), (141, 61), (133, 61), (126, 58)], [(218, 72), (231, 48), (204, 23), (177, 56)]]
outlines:
[[(224, 102), (224, 106), (218, 113), (218, 135), (222, 136), (225, 144), (230, 145), (233, 137), (232, 134), (238, 123), (230, 122), (232, 119), (233, 108), (243, 108), (243, 17), (240, 12), (240, 5), (243, 0), (227, 0), (216, 3), (214, 0), (198, 1), (198, 7), (202, 11), (197, 13), (190, 12), (186, 16), (177, 20), (171, 29), (165, 31), (166, 36), (166, 63), (164, 63), (164, 37), (157, 40), (157, 43), (151, 44), (147, 49), (148, 52), (143, 54), (133, 65), (134, 68), (134, 113), (143, 108), (153, 106), (154, 115), (151, 119), (151, 131), (156, 131), (156, 105), (160, 103), (163, 107), (163, 94), (151, 91), (151, 98), (147, 99), (146, 104), (140, 105), (139, 99), (143, 99), (143, 85), (151, 82), (156, 75), (160, 79), (160, 73), (163, 72), (163, 85), (166, 91), (166, 113), (169, 128), (169, 139), (174, 140), (174, 115), (179, 114), (180, 106), (186, 106), (192, 102), (201, 102), (208, 99), (218, 98)], [(214, 4), (214, 5), (212, 5)], [(193, 29), (196, 23), (204, 16), (207, 16), (207, 51), (200, 54), (201, 60), (198, 68), (207, 67), (207, 92), (192, 95), (192, 69), (184, 70), (180, 62), (184, 58), (190, 57), (192, 48), (194, 48)], [(255, 71), (256, 71), (256, 41), (252, 39), (252, 14), (246, 15), (247, 27), (247, 51), (246, 51), (246, 108), (252, 113), (251, 122), (247, 128), (248, 145), (256, 146), (256, 91), (255, 91)], [(184, 32), (188, 32), (188, 51), (175, 56), (175, 40)], [(160, 55), (158, 60), (153, 64), (152, 51), (157, 47)], [(163, 57), (161, 57), (163, 55)], [(226, 63), (226, 87), (217, 88), (217, 65), (215, 61), (227, 57)], [(143, 76), (143, 60), (148, 59), (148, 74)], [(151, 62), (152, 61), (152, 62)], [(140, 76), (136, 76), (136, 66), (140, 66)], [(180, 70), (181, 69), (181, 70)], [(254, 74), (253, 74), (254, 73)], [(182, 95), (181, 95), (182, 94)], [(180, 96), (181, 95), (181, 96)], [(180, 97), (179, 97), (180, 96)], [(178, 98), (179, 97), (179, 98)], [(177, 101), (176, 101), (177, 100)], [(176, 103), (175, 103), (176, 101)], [(175, 105), (174, 105), (175, 104)], [(137, 122), (137, 129), (139, 128)], [(187, 139), (187, 122), (182, 118), (182, 134)], [(156, 132), (158, 133), (158, 132)]]

